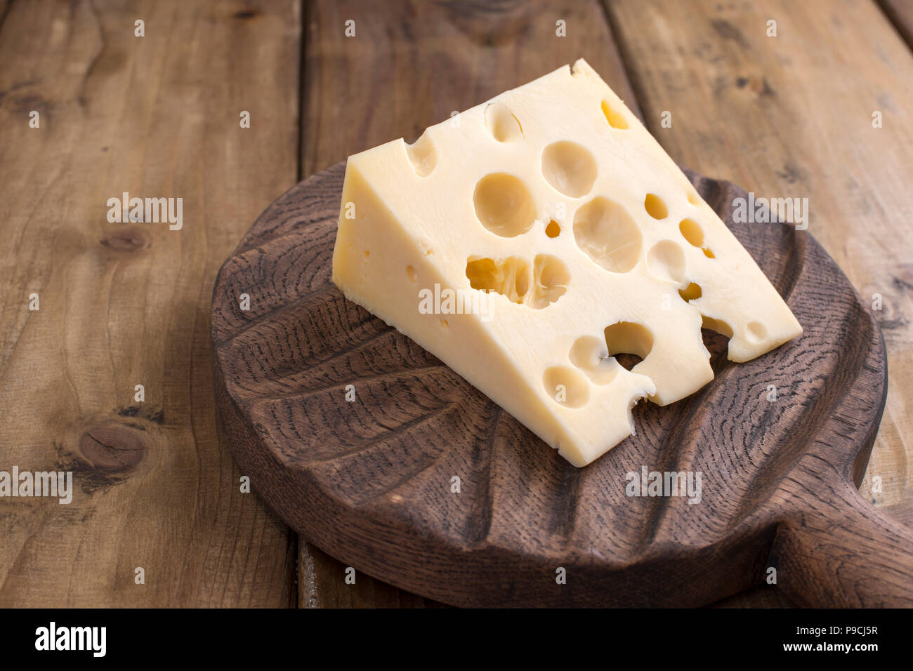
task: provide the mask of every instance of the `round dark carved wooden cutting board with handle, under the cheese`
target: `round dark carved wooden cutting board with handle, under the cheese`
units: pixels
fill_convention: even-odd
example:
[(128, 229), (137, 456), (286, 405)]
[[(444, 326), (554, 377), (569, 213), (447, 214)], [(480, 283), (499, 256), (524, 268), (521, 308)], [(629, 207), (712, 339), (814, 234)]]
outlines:
[[(332, 285), (344, 171), (271, 204), (213, 293), (223, 435), (292, 529), (463, 606), (694, 606), (771, 577), (805, 605), (913, 605), (913, 532), (856, 490), (885, 404), (884, 341), (811, 235), (735, 224), (745, 193), (689, 174), (805, 331), (741, 364), (705, 331), (716, 378), (676, 404), (641, 402), (636, 435), (578, 469)], [(644, 467), (700, 472), (700, 502), (628, 496)]]

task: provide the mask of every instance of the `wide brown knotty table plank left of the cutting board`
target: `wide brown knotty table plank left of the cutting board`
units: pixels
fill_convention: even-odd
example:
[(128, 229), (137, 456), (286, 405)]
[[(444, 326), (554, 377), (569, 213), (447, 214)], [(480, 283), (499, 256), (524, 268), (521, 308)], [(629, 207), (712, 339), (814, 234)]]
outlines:
[[(75, 491), (4, 500), (0, 605), (295, 603), (296, 539), (216, 438), (208, 317), (222, 260), (296, 180), (299, 18), (290, 0), (5, 16), (2, 468), (69, 469)], [(109, 223), (122, 192), (183, 198), (183, 227)]]

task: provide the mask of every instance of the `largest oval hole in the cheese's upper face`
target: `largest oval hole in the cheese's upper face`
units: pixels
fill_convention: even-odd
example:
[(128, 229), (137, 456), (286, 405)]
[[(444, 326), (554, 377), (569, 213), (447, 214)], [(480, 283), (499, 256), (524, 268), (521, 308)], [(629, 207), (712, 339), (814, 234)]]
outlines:
[(614, 273), (626, 273), (640, 258), (640, 229), (622, 205), (603, 196), (577, 210), (573, 236), (582, 252)]

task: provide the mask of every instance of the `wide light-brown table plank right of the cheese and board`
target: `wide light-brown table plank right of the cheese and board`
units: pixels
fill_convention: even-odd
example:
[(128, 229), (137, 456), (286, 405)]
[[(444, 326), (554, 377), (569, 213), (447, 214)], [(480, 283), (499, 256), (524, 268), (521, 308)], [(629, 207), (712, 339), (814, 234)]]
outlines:
[[(913, 56), (873, 2), (619, 0), (607, 11), (647, 126), (679, 163), (809, 199), (809, 231), (887, 341), (887, 406), (861, 491), (913, 501)], [(777, 36), (768, 37), (768, 21)], [(672, 112), (672, 127), (660, 115)], [(873, 127), (873, 114), (883, 127)], [(788, 399), (788, 390), (783, 397)], [(873, 488), (879, 478), (881, 492)]]

